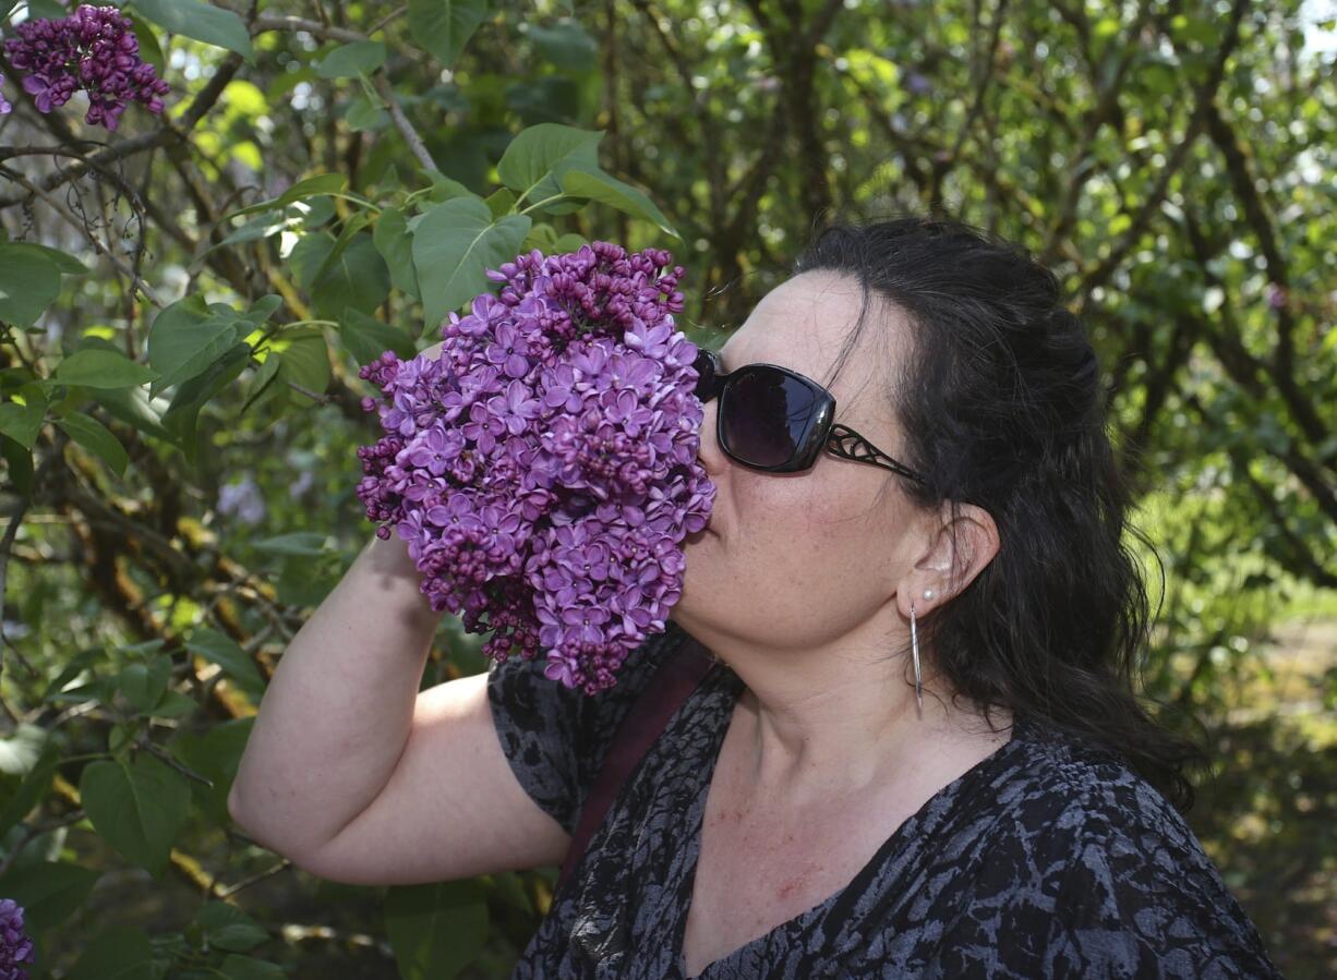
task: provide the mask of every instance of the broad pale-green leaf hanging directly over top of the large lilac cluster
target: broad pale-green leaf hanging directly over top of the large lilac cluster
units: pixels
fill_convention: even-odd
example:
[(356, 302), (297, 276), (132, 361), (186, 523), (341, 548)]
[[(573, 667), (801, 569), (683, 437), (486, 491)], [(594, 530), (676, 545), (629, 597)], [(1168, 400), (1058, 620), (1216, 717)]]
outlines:
[(520, 214), (492, 223), (477, 198), (447, 201), (422, 215), (413, 233), (413, 266), (429, 329), (491, 286), (485, 270), (515, 259), (529, 225)]

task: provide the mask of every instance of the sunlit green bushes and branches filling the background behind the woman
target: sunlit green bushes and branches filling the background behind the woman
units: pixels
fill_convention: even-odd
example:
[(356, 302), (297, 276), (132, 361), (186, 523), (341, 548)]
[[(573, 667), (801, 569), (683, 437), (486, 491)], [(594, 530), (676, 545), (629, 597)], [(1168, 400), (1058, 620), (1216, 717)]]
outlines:
[[(496, 164), (540, 123), (602, 130), (612, 183), (529, 234), (671, 247), (698, 337), (828, 217), (945, 213), (1055, 269), (1163, 566), (1147, 689), (1215, 758), (1191, 822), (1278, 967), (1337, 968), (1330, 7), (126, 9), (163, 118), (40, 115), (0, 59), (0, 894), (29, 909), (35, 976), (508, 975), (551, 869), (333, 885), (223, 801), (265, 677), (370, 533), (357, 365), (429, 344), (449, 299), (406, 221), (468, 193), (513, 221)], [(0, 0), (0, 33), (62, 12)], [(152, 389), (72, 361), (163, 366), (160, 316), (227, 340)], [(476, 648), (445, 623), (424, 686)]]

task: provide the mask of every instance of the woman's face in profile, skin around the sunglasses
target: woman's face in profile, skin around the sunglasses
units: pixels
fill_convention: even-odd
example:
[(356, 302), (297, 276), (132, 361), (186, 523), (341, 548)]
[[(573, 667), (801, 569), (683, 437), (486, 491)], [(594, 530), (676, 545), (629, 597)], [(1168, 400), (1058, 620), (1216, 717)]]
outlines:
[[(721, 352), (723, 369), (762, 361), (826, 384), (860, 308), (856, 279), (804, 273), (757, 305)], [(908, 325), (886, 303), (870, 303), (868, 316), (829, 385), (836, 421), (904, 459), (886, 392), (906, 352)], [(800, 473), (749, 469), (719, 448), (718, 406), (706, 405), (701, 436), (715, 504), (706, 532), (683, 545), (683, 595), (673, 618), (703, 639), (812, 648), (866, 627), (880, 611), (894, 614), (886, 607), (924, 540), (923, 515), (900, 477), (828, 452)]]

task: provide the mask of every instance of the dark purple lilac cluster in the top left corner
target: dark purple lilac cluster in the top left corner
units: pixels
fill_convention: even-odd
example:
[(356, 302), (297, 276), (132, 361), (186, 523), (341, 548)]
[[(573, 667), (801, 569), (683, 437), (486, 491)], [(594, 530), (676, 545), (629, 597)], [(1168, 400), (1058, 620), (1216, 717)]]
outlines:
[(115, 130), (131, 102), (163, 111), (167, 83), (139, 57), (134, 21), (115, 7), (82, 4), (68, 17), (25, 20), (15, 31), (5, 51), (39, 111), (64, 106), (80, 88), (88, 92), (90, 126)]

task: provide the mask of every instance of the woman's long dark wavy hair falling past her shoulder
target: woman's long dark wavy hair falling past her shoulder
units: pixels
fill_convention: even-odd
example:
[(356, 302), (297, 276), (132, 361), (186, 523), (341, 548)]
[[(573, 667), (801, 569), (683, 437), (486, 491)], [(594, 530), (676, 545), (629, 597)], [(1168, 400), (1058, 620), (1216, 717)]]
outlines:
[(927, 483), (905, 480), (906, 493), (927, 508), (975, 504), (997, 525), (999, 554), (924, 619), (937, 670), (985, 717), (1007, 709), (1094, 742), (1187, 810), (1186, 770), (1205, 757), (1135, 689), (1148, 603), (1123, 533), (1150, 541), (1127, 524), (1096, 354), (1054, 273), (1017, 245), (921, 217), (828, 227), (797, 263), (818, 269), (864, 289), (838, 364), (870, 297), (909, 318), (892, 397), (905, 461)]

